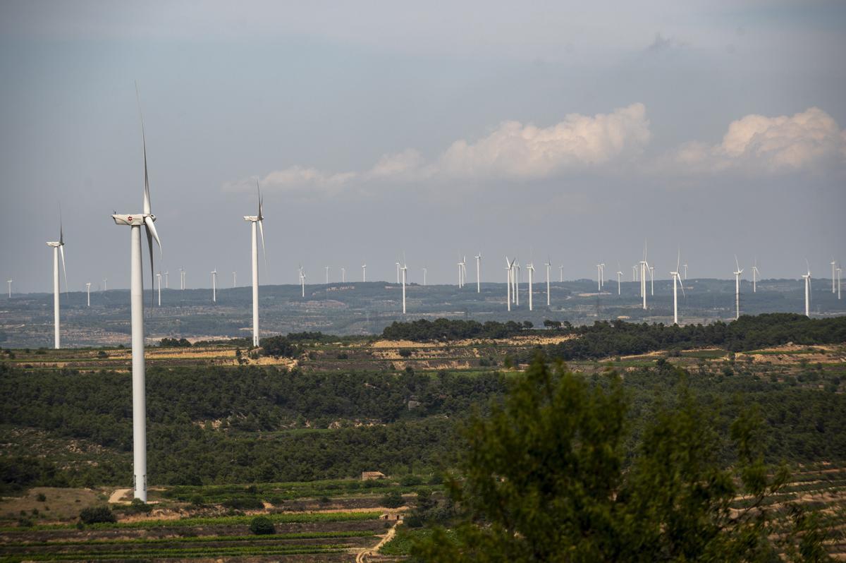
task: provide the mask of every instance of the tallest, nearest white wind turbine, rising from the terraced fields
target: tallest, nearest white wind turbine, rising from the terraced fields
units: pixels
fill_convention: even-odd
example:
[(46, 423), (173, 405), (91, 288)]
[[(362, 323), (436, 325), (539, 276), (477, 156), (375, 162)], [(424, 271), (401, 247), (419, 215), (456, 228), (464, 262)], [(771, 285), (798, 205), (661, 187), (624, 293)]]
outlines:
[[(137, 89), (135, 91), (137, 96)], [(140, 113), (140, 102), (139, 102)], [(146, 389), (144, 373), (144, 281), (141, 262), (141, 225), (147, 236), (150, 251), (150, 276), (153, 275), (153, 239), (162, 253), (162, 242), (156, 232), (156, 216), (150, 206), (150, 177), (147, 174), (147, 147), (144, 135), (144, 118), (141, 117), (141, 141), (144, 148), (144, 213), (112, 216), (114, 223), (130, 228), (130, 288), (129, 301), (132, 312), (132, 449), (133, 484), (135, 498), (147, 501), (147, 451), (146, 451)]]

